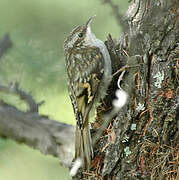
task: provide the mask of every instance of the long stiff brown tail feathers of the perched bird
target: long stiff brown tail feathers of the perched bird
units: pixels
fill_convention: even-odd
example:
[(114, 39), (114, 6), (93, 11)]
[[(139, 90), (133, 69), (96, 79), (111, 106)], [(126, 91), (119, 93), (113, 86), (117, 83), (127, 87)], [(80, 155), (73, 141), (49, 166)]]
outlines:
[(93, 147), (91, 142), (91, 134), (89, 124), (80, 129), (76, 126), (75, 136), (75, 159), (81, 158), (83, 161), (83, 168), (89, 170), (91, 166), (91, 158), (93, 158)]

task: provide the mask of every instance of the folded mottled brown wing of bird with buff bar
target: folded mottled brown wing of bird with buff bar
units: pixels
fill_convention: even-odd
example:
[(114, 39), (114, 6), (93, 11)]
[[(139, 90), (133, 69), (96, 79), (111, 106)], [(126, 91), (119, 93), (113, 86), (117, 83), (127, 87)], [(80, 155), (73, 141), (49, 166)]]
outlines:
[(92, 108), (104, 70), (103, 55), (98, 48), (74, 53), (71, 60), (69, 91), (79, 126), (88, 123), (88, 114)]

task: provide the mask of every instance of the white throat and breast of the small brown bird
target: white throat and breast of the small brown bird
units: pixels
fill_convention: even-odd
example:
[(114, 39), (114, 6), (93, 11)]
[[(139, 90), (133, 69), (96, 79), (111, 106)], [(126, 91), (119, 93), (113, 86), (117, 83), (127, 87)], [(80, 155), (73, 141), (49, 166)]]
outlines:
[(111, 58), (105, 44), (103, 43), (103, 41), (96, 38), (96, 36), (92, 33), (90, 27), (87, 28), (86, 37), (84, 41), (85, 41), (84, 45), (98, 47), (102, 52), (104, 57), (104, 76), (105, 76), (104, 79), (105, 80), (109, 79), (110, 82), (111, 71), (112, 71)]

